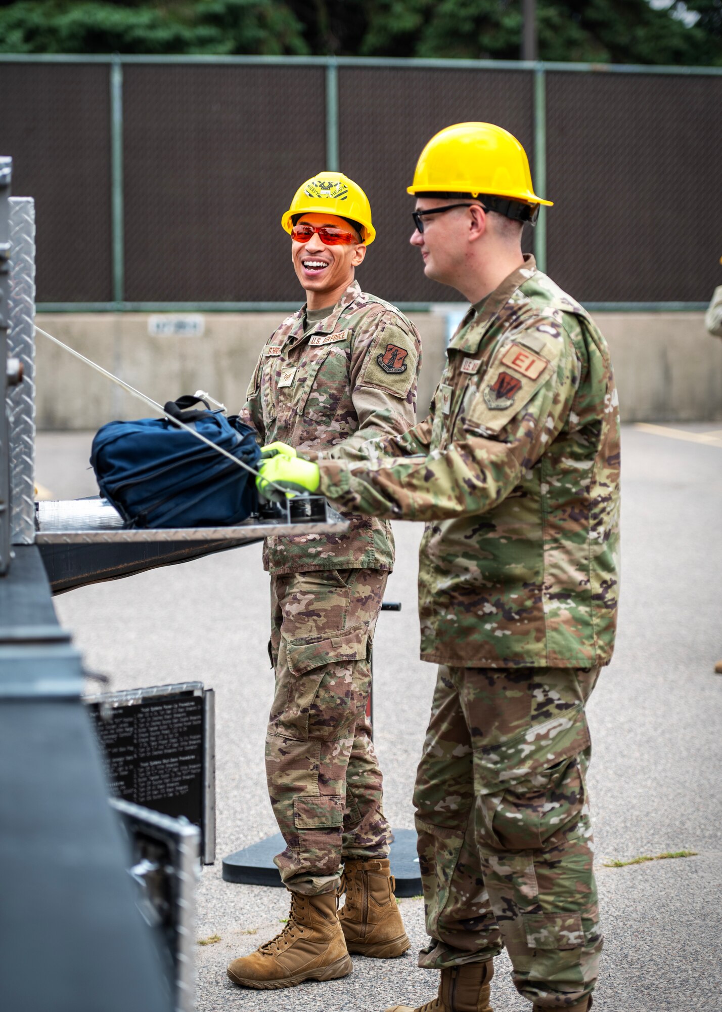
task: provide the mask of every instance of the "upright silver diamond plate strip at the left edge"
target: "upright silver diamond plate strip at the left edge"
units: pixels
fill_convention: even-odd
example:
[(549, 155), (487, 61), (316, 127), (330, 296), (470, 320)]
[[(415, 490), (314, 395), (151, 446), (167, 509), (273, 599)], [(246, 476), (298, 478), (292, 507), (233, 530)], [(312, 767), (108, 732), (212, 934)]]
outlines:
[(8, 354), (22, 363), (22, 383), (8, 390), (10, 540), (35, 538), (35, 202), (10, 198), (10, 329)]

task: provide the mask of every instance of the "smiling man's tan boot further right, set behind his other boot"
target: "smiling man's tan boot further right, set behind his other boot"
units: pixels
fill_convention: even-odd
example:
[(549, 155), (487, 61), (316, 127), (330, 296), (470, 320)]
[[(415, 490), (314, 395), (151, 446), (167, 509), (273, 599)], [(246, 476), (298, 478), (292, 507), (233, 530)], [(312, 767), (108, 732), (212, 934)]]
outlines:
[(390, 959), (411, 947), (394, 886), (387, 858), (346, 861), (341, 886), (346, 889), (346, 906), (339, 911), (339, 920), (349, 952)]

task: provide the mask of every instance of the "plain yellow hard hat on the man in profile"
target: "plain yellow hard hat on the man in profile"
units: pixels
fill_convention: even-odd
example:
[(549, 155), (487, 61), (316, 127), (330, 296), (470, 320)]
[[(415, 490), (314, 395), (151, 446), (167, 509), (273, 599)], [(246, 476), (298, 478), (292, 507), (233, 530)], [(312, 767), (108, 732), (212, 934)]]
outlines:
[(407, 192), (483, 198), (489, 210), (532, 225), (539, 204), (552, 206), (534, 192), (524, 148), (493, 123), (456, 123), (435, 134), (421, 153)]

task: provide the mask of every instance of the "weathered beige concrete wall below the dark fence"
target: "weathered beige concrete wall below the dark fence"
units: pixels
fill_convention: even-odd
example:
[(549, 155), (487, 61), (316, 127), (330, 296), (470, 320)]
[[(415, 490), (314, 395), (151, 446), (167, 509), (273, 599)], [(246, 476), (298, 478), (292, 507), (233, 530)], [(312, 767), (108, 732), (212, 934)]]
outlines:
[[(151, 336), (146, 314), (42, 314), (37, 325), (163, 404), (206, 390), (231, 412), (243, 404), (259, 349), (284, 314), (214, 313), (198, 337)], [(446, 317), (413, 316), (424, 344), (419, 415), (444, 362)], [(722, 341), (702, 313), (599, 313), (612, 352), (624, 421), (722, 420)], [(37, 335), (37, 426), (97, 429), (140, 418), (143, 406)]]

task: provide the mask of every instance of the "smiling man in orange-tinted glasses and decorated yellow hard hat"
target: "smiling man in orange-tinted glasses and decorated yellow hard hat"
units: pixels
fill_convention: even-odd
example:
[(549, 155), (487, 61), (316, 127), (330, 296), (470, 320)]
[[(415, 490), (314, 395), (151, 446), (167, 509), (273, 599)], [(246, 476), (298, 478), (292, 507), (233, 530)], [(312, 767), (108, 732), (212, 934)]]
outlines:
[[(401, 436), (414, 425), (419, 334), (355, 280), (375, 231), (353, 180), (338, 172), (308, 179), (281, 224), (306, 304), (263, 348), (241, 417), (284, 459), (296, 451), (354, 459), (366, 440)], [(292, 901), (280, 935), (229, 966), (231, 980), (245, 987), (345, 977), (353, 968), (349, 952), (383, 958), (410, 945), (393, 896), (381, 772), (366, 718), (393, 539), (387, 520), (353, 510), (346, 516), (347, 533), (269, 537), (264, 549), (276, 672), (266, 771), (286, 843), (275, 861)], [(346, 905), (339, 916), (342, 861)]]

